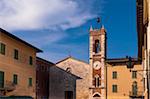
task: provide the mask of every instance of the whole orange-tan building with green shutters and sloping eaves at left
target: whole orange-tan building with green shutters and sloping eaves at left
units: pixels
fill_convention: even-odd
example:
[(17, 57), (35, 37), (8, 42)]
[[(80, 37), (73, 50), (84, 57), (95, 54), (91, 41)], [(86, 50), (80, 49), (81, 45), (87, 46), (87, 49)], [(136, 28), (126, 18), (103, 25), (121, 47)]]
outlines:
[(35, 98), (37, 52), (42, 51), (0, 29), (0, 95)]

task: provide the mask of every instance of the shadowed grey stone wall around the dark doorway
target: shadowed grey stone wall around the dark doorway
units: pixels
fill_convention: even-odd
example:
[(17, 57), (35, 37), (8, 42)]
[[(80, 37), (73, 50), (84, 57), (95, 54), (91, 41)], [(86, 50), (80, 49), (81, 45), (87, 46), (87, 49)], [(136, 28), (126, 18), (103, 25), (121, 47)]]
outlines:
[(76, 77), (57, 66), (50, 67), (49, 99), (65, 99), (65, 91), (73, 91), (76, 99)]

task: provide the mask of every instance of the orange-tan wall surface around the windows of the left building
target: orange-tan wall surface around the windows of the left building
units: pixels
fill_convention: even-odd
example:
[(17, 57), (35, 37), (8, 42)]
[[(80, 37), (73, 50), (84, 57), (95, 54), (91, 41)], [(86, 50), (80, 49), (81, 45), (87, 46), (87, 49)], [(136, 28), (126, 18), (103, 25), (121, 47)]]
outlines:
[[(12, 83), (13, 74), (18, 75), (15, 90), (6, 95), (24, 95), (35, 97), (35, 57), (36, 51), (0, 33), (0, 42), (6, 45), (5, 55), (0, 54), (0, 71), (4, 72), (4, 86)], [(19, 59), (14, 59), (14, 49), (19, 51)], [(29, 56), (33, 57), (33, 65), (29, 65)], [(32, 78), (33, 86), (28, 86), (28, 79)]]

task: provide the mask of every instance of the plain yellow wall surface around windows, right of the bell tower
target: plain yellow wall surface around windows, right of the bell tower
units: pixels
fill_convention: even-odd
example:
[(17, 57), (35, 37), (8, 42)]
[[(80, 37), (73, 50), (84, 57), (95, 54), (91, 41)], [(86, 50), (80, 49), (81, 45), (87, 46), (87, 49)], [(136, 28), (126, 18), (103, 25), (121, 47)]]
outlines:
[[(132, 71), (142, 70), (141, 65), (135, 65)], [(112, 79), (112, 72), (117, 71), (117, 79)], [(132, 84), (134, 81), (138, 84), (138, 92), (144, 92), (143, 90), (143, 72), (137, 71), (137, 78), (132, 79), (132, 72), (126, 65), (112, 66), (107, 64), (107, 94), (108, 99), (130, 99), (129, 92), (132, 91)], [(118, 86), (118, 92), (112, 92), (112, 85)]]

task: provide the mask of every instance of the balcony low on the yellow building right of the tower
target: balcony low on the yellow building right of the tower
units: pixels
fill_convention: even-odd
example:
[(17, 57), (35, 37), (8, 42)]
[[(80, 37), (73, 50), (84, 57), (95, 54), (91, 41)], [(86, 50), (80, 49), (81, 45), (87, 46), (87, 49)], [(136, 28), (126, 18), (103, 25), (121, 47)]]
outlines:
[(143, 91), (130, 91), (129, 92), (129, 97), (130, 98), (139, 98), (139, 99), (144, 99), (143, 96)]

